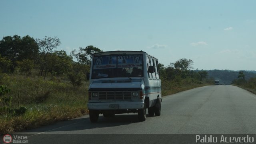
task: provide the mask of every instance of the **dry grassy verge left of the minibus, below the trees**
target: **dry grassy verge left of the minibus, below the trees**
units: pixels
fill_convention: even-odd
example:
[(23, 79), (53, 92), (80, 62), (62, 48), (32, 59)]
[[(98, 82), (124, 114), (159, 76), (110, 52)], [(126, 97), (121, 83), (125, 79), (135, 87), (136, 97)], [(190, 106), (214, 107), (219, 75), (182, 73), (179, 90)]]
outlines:
[[(0, 102), (0, 133), (36, 128), (87, 114), (88, 82), (74, 89), (65, 80), (4, 74), (1, 83), (10, 90)], [(2, 85), (3, 86), (3, 85)]]

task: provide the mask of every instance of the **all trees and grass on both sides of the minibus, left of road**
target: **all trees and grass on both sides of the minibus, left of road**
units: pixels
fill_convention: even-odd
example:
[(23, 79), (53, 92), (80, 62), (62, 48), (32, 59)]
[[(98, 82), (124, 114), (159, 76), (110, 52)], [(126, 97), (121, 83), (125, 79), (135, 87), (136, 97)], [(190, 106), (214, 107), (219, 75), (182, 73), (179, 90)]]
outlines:
[[(88, 114), (92, 45), (67, 54), (56, 51), (56, 37), (18, 35), (0, 41), (0, 134), (37, 128)], [(162, 96), (213, 85), (204, 70), (192, 70), (186, 58), (160, 66)]]

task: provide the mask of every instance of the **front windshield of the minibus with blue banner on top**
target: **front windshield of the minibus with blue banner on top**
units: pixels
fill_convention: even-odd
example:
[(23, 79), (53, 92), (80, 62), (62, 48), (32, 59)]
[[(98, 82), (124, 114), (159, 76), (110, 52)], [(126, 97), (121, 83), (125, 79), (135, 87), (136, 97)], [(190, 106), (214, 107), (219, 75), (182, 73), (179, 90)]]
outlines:
[(94, 56), (92, 79), (143, 77), (142, 54)]

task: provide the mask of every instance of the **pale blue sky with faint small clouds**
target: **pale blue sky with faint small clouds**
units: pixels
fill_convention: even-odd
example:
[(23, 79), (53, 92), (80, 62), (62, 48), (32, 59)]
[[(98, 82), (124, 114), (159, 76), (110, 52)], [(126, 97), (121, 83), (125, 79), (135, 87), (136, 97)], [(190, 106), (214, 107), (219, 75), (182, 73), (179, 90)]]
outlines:
[(256, 70), (256, 0), (0, 0), (0, 37), (57, 37), (68, 54), (146, 51), (164, 66)]

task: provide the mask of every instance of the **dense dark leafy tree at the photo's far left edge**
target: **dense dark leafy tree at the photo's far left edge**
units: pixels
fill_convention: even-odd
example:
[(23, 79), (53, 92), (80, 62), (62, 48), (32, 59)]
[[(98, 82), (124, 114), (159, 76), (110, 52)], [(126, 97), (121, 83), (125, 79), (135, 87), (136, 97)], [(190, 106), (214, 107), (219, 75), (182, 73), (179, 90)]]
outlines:
[(38, 45), (28, 35), (22, 38), (19, 35), (7, 36), (0, 41), (0, 54), (10, 59), (12, 62), (10, 71), (14, 72), (17, 66), (16, 61), (22, 61), (23, 59), (35, 60), (38, 54)]

